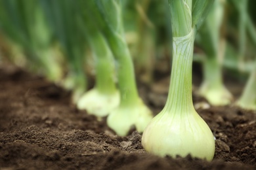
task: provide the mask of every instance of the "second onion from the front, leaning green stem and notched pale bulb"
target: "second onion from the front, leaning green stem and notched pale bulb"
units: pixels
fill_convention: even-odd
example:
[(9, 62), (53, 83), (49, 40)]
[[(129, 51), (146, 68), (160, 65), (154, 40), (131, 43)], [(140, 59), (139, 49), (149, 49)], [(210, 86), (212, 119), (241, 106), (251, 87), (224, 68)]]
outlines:
[(127, 135), (132, 126), (142, 132), (152, 119), (152, 112), (142, 102), (137, 91), (133, 61), (123, 31), (120, 1), (89, 2), (92, 9), (95, 9), (95, 13), (100, 13), (98, 25), (116, 59), (120, 103), (110, 112), (107, 124), (120, 136)]

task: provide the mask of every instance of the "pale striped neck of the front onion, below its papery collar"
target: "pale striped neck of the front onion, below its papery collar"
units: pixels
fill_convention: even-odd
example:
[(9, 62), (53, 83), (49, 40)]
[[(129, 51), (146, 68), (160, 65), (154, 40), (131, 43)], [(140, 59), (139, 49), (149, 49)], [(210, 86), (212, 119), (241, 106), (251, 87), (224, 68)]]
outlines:
[(194, 31), (184, 37), (173, 37), (173, 66), (167, 103), (163, 112), (189, 113), (192, 102), (192, 59)]

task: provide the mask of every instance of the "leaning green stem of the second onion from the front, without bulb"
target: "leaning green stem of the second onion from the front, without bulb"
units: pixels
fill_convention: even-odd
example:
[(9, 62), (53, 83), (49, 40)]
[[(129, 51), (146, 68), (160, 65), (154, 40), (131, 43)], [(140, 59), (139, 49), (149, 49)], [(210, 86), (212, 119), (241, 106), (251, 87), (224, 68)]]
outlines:
[[(137, 92), (133, 61), (125, 35), (121, 18), (120, 1), (95, 1), (96, 8), (102, 19), (98, 17), (98, 25), (106, 36), (106, 40), (117, 61), (118, 88), (121, 95), (120, 107), (137, 105), (139, 94)], [(91, 3), (92, 7), (94, 6)], [(96, 16), (96, 14), (95, 14)]]

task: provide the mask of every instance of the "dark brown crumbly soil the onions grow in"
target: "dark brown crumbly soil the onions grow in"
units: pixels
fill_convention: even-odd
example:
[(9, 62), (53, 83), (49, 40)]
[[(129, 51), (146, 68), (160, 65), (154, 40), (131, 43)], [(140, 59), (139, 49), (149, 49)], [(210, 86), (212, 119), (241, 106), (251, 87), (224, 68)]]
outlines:
[[(196, 80), (196, 78), (194, 78)], [(169, 77), (139, 85), (157, 114), (165, 104)], [(194, 91), (196, 92), (195, 84)], [(228, 88), (240, 95), (242, 84)], [(117, 137), (106, 119), (75, 109), (70, 93), (16, 67), (0, 67), (0, 169), (256, 169), (256, 114), (235, 106), (208, 107), (193, 94), (197, 111), (216, 137), (213, 161), (159, 158), (140, 144), (141, 134)]]

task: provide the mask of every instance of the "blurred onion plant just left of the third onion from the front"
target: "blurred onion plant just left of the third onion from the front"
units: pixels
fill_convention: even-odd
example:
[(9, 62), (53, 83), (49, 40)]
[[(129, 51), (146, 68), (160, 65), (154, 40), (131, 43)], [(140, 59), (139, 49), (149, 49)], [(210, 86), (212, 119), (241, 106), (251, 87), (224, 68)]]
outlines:
[(87, 90), (87, 76), (83, 68), (85, 39), (81, 36), (83, 29), (79, 25), (79, 10), (70, 0), (41, 0), (41, 5), (68, 62), (68, 75), (62, 85), (72, 90), (72, 102), (77, 103)]

